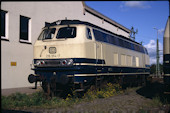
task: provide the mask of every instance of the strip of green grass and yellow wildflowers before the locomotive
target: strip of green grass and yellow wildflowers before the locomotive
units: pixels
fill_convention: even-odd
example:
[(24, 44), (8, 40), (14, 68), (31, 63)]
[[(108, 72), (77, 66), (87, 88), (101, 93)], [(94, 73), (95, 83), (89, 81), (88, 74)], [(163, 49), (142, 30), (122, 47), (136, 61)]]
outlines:
[(2, 109), (67, 108), (81, 102), (92, 101), (96, 98), (108, 98), (122, 92), (120, 85), (108, 83), (101, 90), (89, 89), (81, 98), (78, 98), (74, 92), (73, 95), (68, 94), (66, 99), (53, 97), (49, 100), (46, 99), (43, 92), (31, 95), (15, 93), (10, 96), (1, 96), (1, 106)]

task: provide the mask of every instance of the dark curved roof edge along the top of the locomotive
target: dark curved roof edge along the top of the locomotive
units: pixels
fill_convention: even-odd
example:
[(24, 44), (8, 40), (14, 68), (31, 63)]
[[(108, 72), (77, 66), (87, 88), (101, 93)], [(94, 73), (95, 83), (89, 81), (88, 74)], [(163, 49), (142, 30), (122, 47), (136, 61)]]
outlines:
[(122, 36), (122, 35), (115, 34), (115, 33), (111, 32), (111, 31), (108, 31), (108, 30), (106, 30), (104, 28), (101, 28), (101, 27), (99, 27), (97, 25), (94, 25), (94, 24), (91, 24), (91, 23), (85, 22), (85, 21), (80, 21), (80, 20), (58, 20), (58, 21), (55, 21), (55, 22), (52, 22), (52, 23), (46, 23), (45, 27), (51, 27), (51, 26), (56, 26), (56, 25), (73, 25), (73, 24), (83, 24), (83, 25), (91, 26), (91, 27), (94, 27), (94, 28), (97, 28), (97, 29), (101, 29), (103, 31), (106, 31), (106, 32), (111, 33), (113, 35), (116, 35), (118, 37), (121, 37), (121, 38), (123, 38), (125, 40), (129, 40), (129, 41), (132, 41), (134, 43), (137, 43), (137, 44), (141, 45), (140, 43), (138, 43), (138, 42), (136, 42), (136, 41), (134, 41), (134, 40), (132, 40), (130, 38), (127, 38), (127, 37)]

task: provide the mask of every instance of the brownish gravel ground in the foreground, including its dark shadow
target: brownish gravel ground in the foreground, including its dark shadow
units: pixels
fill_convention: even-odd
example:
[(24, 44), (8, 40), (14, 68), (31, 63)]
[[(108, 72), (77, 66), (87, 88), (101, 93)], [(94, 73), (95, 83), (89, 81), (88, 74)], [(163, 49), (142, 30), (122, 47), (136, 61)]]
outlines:
[(128, 88), (123, 94), (113, 97), (81, 102), (71, 107), (3, 110), (2, 113), (170, 113), (169, 100), (167, 105), (156, 107), (150, 105), (156, 95), (160, 97), (163, 95), (163, 87), (161, 83), (152, 83), (145, 87)]

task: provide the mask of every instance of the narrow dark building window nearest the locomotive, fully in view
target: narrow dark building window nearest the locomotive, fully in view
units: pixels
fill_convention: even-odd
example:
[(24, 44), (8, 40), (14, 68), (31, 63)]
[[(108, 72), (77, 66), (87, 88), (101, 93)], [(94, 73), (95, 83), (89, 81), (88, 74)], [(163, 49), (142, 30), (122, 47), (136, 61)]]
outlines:
[(20, 41), (30, 42), (30, 18), (20, 16)]

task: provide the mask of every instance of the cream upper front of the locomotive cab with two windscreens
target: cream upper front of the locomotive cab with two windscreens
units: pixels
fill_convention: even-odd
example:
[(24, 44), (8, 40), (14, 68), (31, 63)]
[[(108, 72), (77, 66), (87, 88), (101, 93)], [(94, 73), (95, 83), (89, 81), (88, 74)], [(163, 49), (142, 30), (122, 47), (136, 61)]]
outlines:
[(82, 51), (86, 46), (84, 44), (92, 42), (92, 37), (87, 38), (90, 37), (87, 36), (91, 34), (90, 31), (86, 32), (87, 28), (81, 25), (45, 28), (35, 42), (34, 58), (84, 58), (86, 56), (86, 51)]

